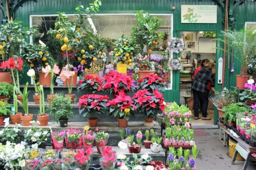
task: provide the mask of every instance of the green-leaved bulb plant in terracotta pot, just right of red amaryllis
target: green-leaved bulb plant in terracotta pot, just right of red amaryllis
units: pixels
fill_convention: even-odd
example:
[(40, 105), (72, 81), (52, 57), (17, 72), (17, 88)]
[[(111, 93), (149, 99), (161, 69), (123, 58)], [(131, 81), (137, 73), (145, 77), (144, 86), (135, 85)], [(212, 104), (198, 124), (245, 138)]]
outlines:
[(28, 99), (28, 96), (29, 96), (29, 91), (28, 90), (28, 86), (29, 86), (29, 83), (26, 82), (26, 85), (23, 89), (23, 93), (21, 93), (20, 89), (18, 89), (16, 86), (16, 90), (18, 91), (18, 93), (20, 94), (23, 102), (20, 102), (20, 100), (17, 100), (15, 99), (19, 104), (20, 106), (23, 108), (24, 110), (24, 114), (22, 114), (21, 116), (21, 121), (22, 121), (22, 125), (23, 126), (30, 126), (32, 125), (31, 121), (33, 120), (33, 114), (29, 113), (29, 99)]

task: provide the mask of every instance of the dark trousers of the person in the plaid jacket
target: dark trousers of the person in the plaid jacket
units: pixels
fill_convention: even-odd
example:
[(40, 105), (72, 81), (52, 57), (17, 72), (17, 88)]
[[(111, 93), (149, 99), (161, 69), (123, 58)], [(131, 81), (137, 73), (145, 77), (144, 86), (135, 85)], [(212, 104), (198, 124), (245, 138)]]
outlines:
[(208, 108), (208, 95), (207, 92), (203, 93), (200, 91), (195, 91), (192, 89), (194, 95), (194, 114), (195, 117), (199, 116), (199, 103), (201, 104), (202, 116), (207, 117), (207, 108)]

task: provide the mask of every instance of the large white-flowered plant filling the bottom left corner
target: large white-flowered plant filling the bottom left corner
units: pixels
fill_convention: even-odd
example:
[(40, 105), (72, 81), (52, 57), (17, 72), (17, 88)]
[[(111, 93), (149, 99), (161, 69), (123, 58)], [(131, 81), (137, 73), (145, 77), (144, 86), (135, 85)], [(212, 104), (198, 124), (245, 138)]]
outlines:
[(20, 170), (25, 167), (27, 149), (23, 143), (6, 142), (6, 149), (0, 150), (0, 163), (5, 170)]

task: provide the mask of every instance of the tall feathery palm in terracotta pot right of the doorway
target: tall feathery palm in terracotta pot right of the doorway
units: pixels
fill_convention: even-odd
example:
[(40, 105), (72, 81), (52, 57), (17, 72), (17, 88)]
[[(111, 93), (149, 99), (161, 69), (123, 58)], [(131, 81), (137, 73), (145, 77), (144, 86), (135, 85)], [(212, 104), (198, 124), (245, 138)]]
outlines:
[[(256, 56), (256, 33), (255, 28), (242, 28), (240, 31), (221, 31), (221, 38), (216, 40), (226, 43), (234, 51), (234, 57), (241, 62), (241, 72), (236, 75), (236, 87), (244, 88), (244, 84), (249, 79), (247, 75), (247, 63)], [(226, 37), (226, 38), (224, 38)], [(218, 50), (226, 49), (218, 47)], [(229, 48), (227, 48), (229, 49)], [(227, 53), (230, 51), (227, 50)]]

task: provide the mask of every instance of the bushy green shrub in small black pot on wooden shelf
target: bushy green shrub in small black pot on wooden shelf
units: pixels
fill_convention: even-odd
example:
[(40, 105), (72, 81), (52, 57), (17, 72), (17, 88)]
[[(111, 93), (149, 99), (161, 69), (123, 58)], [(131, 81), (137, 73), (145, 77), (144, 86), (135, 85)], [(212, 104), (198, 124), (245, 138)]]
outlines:
[(63, 94), (57, 94), (52, 99), (52, 104), (48, 106), (50, 114), (56, 122), (60, 123), (61, 127), (67, 127), (67, 121), (70, 115), (73, 114), (70, 98), (65, 98)]

